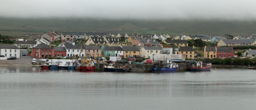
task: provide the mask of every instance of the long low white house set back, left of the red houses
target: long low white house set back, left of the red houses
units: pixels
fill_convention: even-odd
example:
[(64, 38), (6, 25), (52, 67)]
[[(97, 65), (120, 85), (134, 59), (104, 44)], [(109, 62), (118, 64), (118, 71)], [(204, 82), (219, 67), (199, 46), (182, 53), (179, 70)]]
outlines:
[(27, 47), (27, 48), (33, 48), (36, 47), (38, 44), (36, 41), (15, 41), (14, 45), (18, 48), (20, 47)]

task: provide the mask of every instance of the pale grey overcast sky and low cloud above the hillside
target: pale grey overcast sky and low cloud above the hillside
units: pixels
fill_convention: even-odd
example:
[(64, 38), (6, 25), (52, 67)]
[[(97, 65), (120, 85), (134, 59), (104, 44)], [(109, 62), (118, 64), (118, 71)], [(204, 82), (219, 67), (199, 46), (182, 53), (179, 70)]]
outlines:
[(255, 11), (255, 0), (2, 0), (0, 16), (247, 20)]

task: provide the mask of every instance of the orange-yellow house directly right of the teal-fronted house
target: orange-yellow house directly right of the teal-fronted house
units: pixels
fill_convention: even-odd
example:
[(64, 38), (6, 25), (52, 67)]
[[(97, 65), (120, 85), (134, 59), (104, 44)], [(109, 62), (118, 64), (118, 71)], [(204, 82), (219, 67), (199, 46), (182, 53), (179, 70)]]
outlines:
[(124, 58), (133, 57), (134, 55), (140, 55), (140, 50), (134, 46), (123, 46), (123, 56)]

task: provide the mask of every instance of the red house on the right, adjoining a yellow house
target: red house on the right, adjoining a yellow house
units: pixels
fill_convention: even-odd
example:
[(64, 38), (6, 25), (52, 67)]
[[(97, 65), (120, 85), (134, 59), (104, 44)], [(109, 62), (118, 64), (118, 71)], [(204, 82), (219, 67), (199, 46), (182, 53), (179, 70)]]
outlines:
[(233, 54), (233, 46), (231, 46), (231, 47), (216, 46), (216, 48), (217, 48), (217, 57), (219, 57), (221, 59), (237, 56), (237, 54)]

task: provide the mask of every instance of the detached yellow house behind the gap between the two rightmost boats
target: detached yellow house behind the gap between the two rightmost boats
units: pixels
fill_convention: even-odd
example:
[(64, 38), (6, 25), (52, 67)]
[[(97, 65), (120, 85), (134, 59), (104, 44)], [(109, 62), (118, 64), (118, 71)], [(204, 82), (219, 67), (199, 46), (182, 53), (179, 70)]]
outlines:
[(179, 46), (179, 54), (184, 54), (188, 59), (194, 59), (195, 58), (194, 46), (193, 47)]

